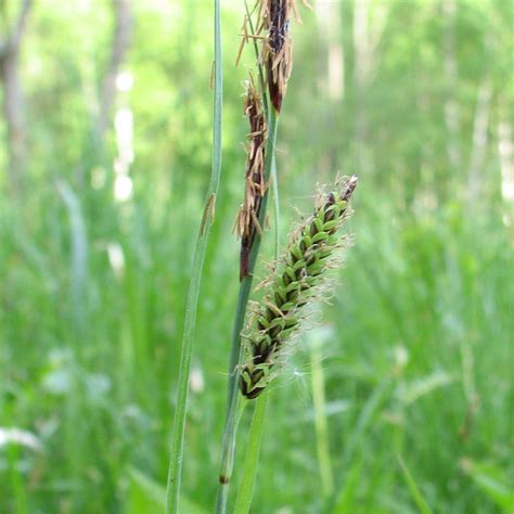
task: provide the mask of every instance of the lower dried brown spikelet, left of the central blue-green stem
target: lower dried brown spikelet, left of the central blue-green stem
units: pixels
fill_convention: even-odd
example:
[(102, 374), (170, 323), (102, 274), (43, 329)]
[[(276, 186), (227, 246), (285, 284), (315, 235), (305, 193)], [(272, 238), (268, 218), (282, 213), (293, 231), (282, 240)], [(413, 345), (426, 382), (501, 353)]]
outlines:
[(240, 280), (248, 274), (249, 252), (256, 233), (261, 233), (259, 223), (262, 197), (268, 189), (265, 180), (266, 117), (262, 100), (249, 74), (244, 99), (244, 113), (249, 121), (248, 150), (245, 174), (244, 202), (236, 220), (237, 235), (241, 237)]

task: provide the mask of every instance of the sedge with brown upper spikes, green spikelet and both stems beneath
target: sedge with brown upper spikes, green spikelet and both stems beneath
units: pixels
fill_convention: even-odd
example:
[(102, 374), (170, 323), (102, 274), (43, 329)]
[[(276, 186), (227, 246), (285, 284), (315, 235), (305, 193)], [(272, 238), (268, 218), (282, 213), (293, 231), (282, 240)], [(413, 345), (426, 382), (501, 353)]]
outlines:
[[(296, 246), (296, 243), (293, 243), (292, 253), (284, 260), (283, 275), (275, 283), (278, 288), (270, 293), (271, 297), (266, 300), (266, 311), (258, 317), (257, 333), (259, 336), (249, 338), (252, 344), (246, 345), (243, 350), (242, 331), (245, 320), (250, 316), (248, 299), (267, 220), (266, 210), (270, 182), (274, 184), (275, 190), (275, 214), (279, 210), (274, 166), (277, 129), (293, 64), (288, 31), (291, 13), (294, 13), (298, 18), (294, 0), (258, 0), (254, 8), (255, 12), (257, 22), (254, 24), (252, 13), (247, 10), (243, 25), (243, 42), (249, 39), (254, 41), (258, 59), (260, 89), (257, 90), (250, 74), (245, 95), (245, 114), (250, 127), (245, 194), (236, 220), (237, 234), (241, 236), (241, 286), (229, 363), (229, 391), (216, 504), (217, 513), (227, 511), (237, 421), (242, 415), (246, 400), (258, 398), (254, 409), (250, 444), (245, 457), (243, 480), (234, 507), (234, 512), (248, 512), (265, 422), (267, 395), (262, 393), (272, 375), (274, 362), (281, 354), (283, 343), (299, 326), (298, 311), (307, 303), (310, 294), (317, 291), (316, 285), (320, 282), (319, 275), (323, 274), (325, 265), (330, 260), (329, 257), (337, 244), (335, 232), (345, 219), (347, 203), (357, 183), (357, 179), (352, 177), (345, 183), (342, 191), (332, 193), (325, 204), (317, 209), (316, 216), (311, 220), (313, 224), (306, 228), (307, 232), (303, 234), (303, 241)], [(248, 27), (250, 34), (248, 34)], [(257, 50), (257, 40), (261, 41), (260, 51)], [(275, 221), (278, 221), (278, 216)], [(275, 234), (275, 252), (278, 254), (277, 227)], [(304, 268), (301, 268), (301, 262), (305, 265)], [(308, 264), (306, 265), (306, 262)], [(303, 273), (303, 275), (295, 277), (296, 272)], [(293, 273), (293, 277), (290, 273)], [(278, 299), (279, 297), (281, 300)], [(248, 358), (248, 356), (250, 357)], [(237, 394), (237, 385), (242, 396)]]

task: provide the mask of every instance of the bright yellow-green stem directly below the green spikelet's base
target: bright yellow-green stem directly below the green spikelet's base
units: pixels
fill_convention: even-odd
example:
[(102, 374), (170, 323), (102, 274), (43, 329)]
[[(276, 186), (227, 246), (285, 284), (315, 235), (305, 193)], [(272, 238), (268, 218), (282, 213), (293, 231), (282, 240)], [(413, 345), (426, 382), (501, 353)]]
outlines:
[(252, 426), (249, 428), (248, 445), (244, 458), (243, 475), (234, 505), (234, 514), (247, 514), (252, 504), (255, 477), (259, 464), (260, 442), (266, 419), (266, 406), (268, 403), (268, 391), (260, 395), (256, 400)]

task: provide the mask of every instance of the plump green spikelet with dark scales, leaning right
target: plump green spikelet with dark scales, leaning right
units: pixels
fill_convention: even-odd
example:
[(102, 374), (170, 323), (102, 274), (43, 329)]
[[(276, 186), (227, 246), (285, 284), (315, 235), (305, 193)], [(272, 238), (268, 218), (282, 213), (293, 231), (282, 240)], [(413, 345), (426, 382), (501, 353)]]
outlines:
[(345, 180), (339, 192), (325, 195), (313, 215), (292, 237), (280, 270), (250, 320), (247, 356), (241, 370), (241, 393), (257, 398), (267, 387), (283, 344), (298, 329), (300, 309), (322, 282), (336, 235), (348, 217), (357, 177)]

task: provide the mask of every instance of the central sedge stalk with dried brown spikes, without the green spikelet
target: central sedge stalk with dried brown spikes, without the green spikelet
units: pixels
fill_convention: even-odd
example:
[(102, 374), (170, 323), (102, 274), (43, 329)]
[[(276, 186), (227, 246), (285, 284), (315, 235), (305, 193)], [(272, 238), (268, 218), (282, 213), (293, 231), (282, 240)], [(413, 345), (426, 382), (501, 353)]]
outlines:
[[(256, 147), (261, 149), (262, 159), (259, 160), (259, 165), (262, 166), (261, 171), (259, 171), (261, 172), (261, 180), (260, 176), (255, 175), (255, 167), (252, 163), (252, 159), (254, 158), (252, 149), (254, 145), (250, 143), (245, 177), (245, 202), (240, 211), (237, 221), (240, 235), (242, 237), (240, 259), (241, 284), (232, 329), (227, 416), (222, 441), (219, 489), (216, 501), (217, 513), (224, 513), (227, 511), (235, 452), (236, 424), (244, 406), (244, 403), (240, 402), (237, 395), (237, 368), (242, 357), (241, 332), (244, 326), (249, 294), (252, 291), (253, 275), (259, 254), (262, 228), (265, 227), (267, 219), (269, 198), (268, 184), (270, 183), (270, 179), (272, 179), (271, 171), (274, 168), (279, 115), (292, 69), (292, 47), (288, 30), (291, 12), (296, 12), (294, 0), (258, 0), (253, 11), (253, 13), (256, 13), (256, 23), (253, 23), (253, 13), (247, 10), (245, 24), (243, 26), (243, 42), (253, 40), (255, 49), (257, 49), (255, 41), (259, 40), (261, 42), (260, 51), (256, 50), (256, 53), (259, 70), (260, 95), (262, 97), (262, 110), (265, 113), (264, 127), (266, 127), (266, 130), (264, 127), (262, 129), (259, 128), (258, 134), (259, 137), (266, 138), (266, 144), (264, 144), (264, 141), (260, 141), (258, 145), (255, 145)], [(249, 27), (250, 34), (246, 30), (247, 27)], [(252, 82), (250, 77), (250, 83)], [(246, 102), (252, 103), (252, 92), (248, 91), (248, 93)], [(249, 117), (252, 129), (254, 128), (253, 117), (255, 118), (256, 111), (246, 108), (246, 114)], [(252, 131), (250, 138), (254, 136), (255, 133)], [(248, 188), (248, 181), (253, 182), (250, 188)], [(273, 183), (277, 185), (275, 178)], [(250, 202), (248, 202), (248, 193)], [(277, 204), (278, 195), (275, 194), (275, 213), (278, 213)], [(275, 241), (278, 241), (278, 236), (275, 237)]]

